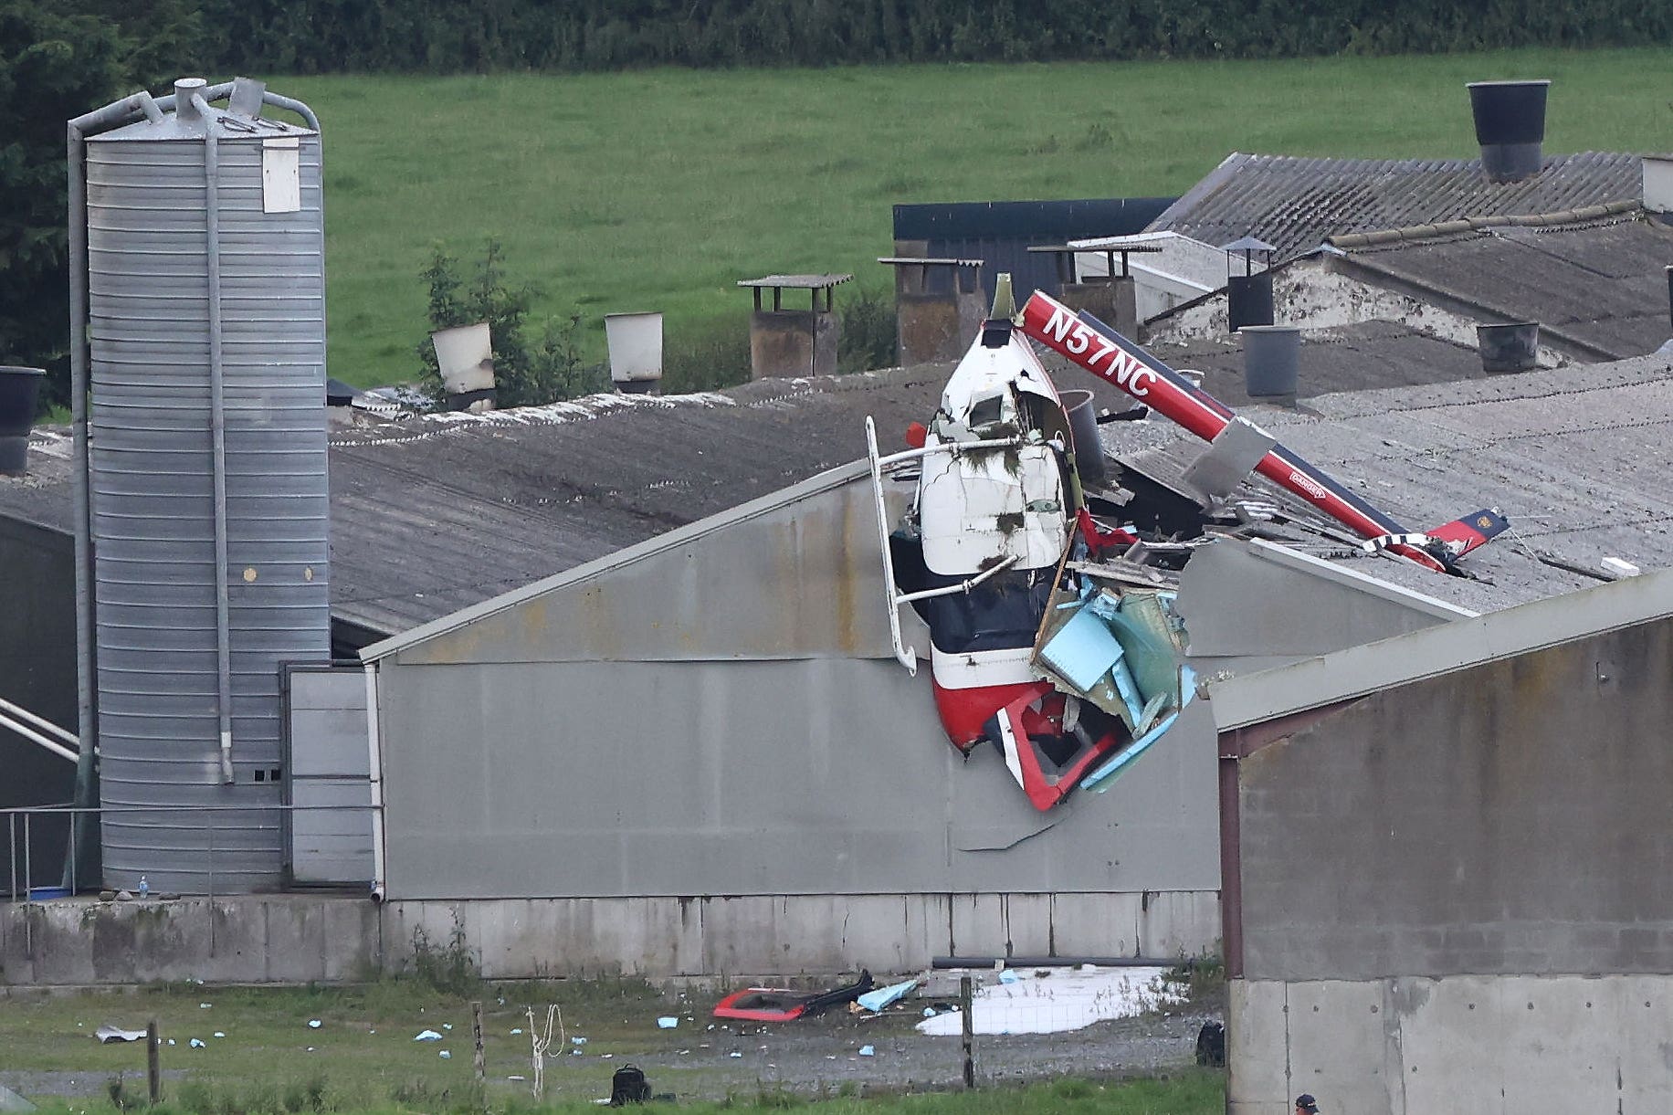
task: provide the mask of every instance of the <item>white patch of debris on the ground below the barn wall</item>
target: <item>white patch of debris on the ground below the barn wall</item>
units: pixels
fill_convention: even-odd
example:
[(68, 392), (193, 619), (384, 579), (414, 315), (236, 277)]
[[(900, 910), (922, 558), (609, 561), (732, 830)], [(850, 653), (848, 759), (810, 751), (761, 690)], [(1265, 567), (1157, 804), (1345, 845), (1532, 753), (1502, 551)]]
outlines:
[[(1166, 981), (1166, 968), (1042, 968), (1017, 974), (1016, 983), (975, 991), (970, 1003), (975, 1033), (1062, 1033), (1184, 1001), (1183, 988)], [(917, 1026), (932, 1036), (959, 1035), (962, 1028), (957, 1011)]]

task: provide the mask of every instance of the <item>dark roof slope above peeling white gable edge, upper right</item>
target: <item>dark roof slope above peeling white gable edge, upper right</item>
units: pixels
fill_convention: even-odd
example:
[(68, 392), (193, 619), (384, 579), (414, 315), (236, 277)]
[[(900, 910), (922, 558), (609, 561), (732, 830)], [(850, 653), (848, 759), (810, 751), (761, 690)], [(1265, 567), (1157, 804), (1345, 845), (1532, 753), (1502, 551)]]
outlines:
[(1591, 360), (1670, 337), (1673, 228), (1640, 209), (1591, 221), (1337, 236), (1330, 263), (1479, 321), (1539, 321), (1541, 342)]

